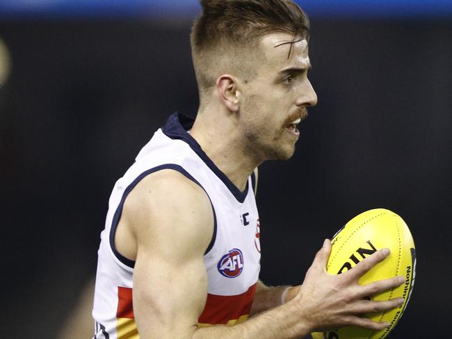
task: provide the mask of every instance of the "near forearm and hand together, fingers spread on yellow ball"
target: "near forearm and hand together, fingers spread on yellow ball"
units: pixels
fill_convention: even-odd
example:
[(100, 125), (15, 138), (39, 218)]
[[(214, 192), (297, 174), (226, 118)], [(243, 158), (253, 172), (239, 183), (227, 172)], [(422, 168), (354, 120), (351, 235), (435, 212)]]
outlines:
[[(395, 308), (400, 306), (403, 300), (368, 301), (364, 300), (364, 297), (401, 285), (403, 278), (396, 277), (363, 286), (358, 284), (358, 280), (389, 253), (380, 250), (362, 260), (345, 275), (333, 276), (325, 269), (330, 251), (331, 242), (325, 240), (307, 271), (305, 281), (299, 286), (298, 294), (284, 305), (236, 326), (211, 327), (203, 332), (196, 331), (194, 338), (303, 338), (313, 331), (347, 325), (376, 331), (385, 329), (389, 324), (373, 322), (360, 315)], [(209, 335), (206, 336), (207, 333)]]

